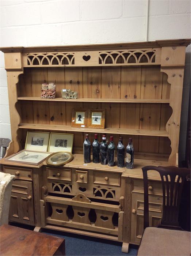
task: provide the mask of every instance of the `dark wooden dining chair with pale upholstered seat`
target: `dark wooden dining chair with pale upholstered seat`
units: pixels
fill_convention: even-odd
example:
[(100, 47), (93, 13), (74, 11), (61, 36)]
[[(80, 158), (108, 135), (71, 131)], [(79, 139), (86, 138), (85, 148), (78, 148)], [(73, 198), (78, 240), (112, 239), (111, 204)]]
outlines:
[[(148, 170), (159, 172), (163, 188), (163, 217), (158, 227), (149, 227)], [(191, 233), (179, 226), (179, 206), (187, 168), (175, 166), (145, 166), (144, 179), (144, 233), (138, 255), (190, 255)], [(160, 228), (159, 228), (160, 227)]]

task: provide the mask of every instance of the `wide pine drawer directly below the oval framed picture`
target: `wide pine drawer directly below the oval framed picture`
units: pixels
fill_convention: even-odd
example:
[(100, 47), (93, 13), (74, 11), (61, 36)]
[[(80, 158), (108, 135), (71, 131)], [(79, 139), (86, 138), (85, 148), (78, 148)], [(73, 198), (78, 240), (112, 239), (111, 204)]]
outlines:
[(72, 170), (62, 168), (46, 167), (47, 178), (51, 180), (72, 180)]

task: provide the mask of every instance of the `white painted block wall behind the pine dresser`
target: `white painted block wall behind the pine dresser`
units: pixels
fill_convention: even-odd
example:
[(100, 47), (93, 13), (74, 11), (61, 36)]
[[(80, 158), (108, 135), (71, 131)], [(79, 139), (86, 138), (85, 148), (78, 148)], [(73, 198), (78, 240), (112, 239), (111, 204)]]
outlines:
[[(190, 0), (150, 0), (148, 40), (190, 38), (190, 16)], [(146, 0), (0, 0), (2, 47), (144, 41), (145, 26)], [(189, 47), (180, 128), (184, 142), (190, 52)], [(7, 78), (0, 52), (1, 137), (11, 139)]]

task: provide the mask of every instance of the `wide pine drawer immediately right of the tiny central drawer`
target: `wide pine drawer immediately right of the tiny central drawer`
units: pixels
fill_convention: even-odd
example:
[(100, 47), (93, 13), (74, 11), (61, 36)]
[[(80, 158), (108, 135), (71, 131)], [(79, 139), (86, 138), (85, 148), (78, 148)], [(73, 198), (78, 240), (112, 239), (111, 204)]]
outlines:
[(121, 174), (108, 172), (93, 172), (93, 184), (120, 186)]

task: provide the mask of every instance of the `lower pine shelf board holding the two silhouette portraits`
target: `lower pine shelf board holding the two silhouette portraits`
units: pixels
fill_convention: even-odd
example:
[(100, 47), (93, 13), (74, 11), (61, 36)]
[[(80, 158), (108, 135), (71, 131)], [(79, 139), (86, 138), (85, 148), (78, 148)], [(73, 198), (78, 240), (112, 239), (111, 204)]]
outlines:
[(71, 131), (71, 132), (97, 132), (97, 133), (111, 133), (111, 134), (128, 134), (128, 135), (146, 135), (146, 136), (160, 136), (168, 137), (167, 131), (160, 130), (145, 130), (145, 129), (126, 129), (126, 128), (81, 128), (71, 127), (70, 125), (60, 124), (30, 124), (21, 123), (19, 128), (22, 129), (38, 129), (38, 130), (53, 130), (53, 131)]

